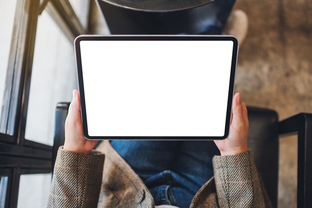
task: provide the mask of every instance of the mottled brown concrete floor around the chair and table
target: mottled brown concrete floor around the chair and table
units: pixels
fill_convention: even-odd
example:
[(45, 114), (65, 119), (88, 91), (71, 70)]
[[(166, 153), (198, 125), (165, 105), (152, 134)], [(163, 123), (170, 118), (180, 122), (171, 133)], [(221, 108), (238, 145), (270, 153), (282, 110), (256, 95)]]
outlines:
[[(312, 113), (312, 0), (237, 0), (249, 17), (239, 51), (236, 91), (249, 106), (285, 119)], [(93, 33), (109, 30), (92, 7)], [(297, 137), (280, 139), (279, 208), (297, 207)]]

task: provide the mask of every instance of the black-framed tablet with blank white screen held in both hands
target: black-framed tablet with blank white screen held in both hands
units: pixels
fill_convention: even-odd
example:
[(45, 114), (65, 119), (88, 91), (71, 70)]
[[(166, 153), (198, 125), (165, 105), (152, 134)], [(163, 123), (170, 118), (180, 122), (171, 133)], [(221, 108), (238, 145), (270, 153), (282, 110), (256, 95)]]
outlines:
[(237, 39), (232, 36), (77, 37), (85, 137), (225, 139), (237, 49)]

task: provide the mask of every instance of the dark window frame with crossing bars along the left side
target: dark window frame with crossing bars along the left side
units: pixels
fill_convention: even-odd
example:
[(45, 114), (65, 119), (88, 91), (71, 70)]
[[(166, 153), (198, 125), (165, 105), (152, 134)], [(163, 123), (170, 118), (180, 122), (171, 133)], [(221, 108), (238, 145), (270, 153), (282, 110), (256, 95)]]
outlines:
[(17, 207), (20, 175), (52, 170), (52, 146), (25, 139), (37, 21), (44, 9), (70, 41), (88, 33), (69, 0), (16, 2), (0, 117), (0, 176), (8, 176), (5, 208)]

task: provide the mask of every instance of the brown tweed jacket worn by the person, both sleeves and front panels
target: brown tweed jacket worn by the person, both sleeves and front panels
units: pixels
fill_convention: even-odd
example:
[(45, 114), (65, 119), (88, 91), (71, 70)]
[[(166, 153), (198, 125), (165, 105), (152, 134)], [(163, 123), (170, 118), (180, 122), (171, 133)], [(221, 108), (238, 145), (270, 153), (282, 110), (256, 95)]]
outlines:
[[(105, 159), (105, 160), (104, 160)], [(215, 156), (214, 178), (194, 196), (190, 208), (271, 208), (252, 154)], [(59, 148), (48, 208), (154, 208), (140, 177), (108, 141), (90, 154)]]

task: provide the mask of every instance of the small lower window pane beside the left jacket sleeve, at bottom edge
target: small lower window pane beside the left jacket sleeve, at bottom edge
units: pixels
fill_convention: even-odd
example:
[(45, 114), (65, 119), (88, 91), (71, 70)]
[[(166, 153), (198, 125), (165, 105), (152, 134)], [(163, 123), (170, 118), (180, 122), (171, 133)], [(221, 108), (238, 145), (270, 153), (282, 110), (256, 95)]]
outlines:
[(51, 185), (51, 174), (21, 175), (17, 208), (46, 208)]

